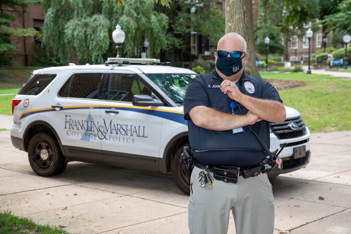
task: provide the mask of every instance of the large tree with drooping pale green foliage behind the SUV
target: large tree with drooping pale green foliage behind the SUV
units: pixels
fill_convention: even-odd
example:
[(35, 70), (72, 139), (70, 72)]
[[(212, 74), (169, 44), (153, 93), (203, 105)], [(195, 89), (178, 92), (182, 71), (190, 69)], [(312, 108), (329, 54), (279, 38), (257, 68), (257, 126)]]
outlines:
[(115, 54), (112, 32), (117, 23), (125, 31), (123, 54), (132, 55), (132, 47), (142, 48), (148, 38), (152, 53), (165, 45), (167, 17), (153, 11), (150, 0), (129, 0), (118, 6), (114, 1), (51, 0), (42, 1), (46, 20), (42, 28), (46, 51), (57, 51), (61, 63), (71, 54), (94, 63)]

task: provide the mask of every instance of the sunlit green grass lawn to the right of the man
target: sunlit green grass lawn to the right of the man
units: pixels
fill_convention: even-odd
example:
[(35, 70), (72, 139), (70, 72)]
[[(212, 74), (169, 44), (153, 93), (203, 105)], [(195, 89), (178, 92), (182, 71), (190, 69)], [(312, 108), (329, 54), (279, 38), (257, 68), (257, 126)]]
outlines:
[(311, 132), (351, 129), (351, 80), (306, 73), (262, 73), (264, 79), (297, 80), (304, 87), (279, 91), (285, 106), (297, 109)]

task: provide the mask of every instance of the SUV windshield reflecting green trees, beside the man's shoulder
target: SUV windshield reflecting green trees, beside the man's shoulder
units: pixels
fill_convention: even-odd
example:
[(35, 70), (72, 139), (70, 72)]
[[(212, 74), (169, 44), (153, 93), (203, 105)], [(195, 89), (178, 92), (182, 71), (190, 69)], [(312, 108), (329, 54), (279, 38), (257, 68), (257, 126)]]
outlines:
[(188, 83), (195, 74), (146, 74), (174, 102), (183, 103)]

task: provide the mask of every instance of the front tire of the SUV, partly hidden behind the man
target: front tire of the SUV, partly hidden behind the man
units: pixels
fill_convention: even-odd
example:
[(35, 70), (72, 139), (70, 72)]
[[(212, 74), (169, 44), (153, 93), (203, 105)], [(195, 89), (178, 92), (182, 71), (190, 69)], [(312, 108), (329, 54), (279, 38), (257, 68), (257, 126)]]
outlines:
[(174, 154), (171, 170), (173, 175), (174, 183), (181, 190), (181, 192), (186, 195), (190, 195), (190, 183), (188, 182), (188, 178), (184, 172), (183, 165), (180, 163), (180, 155), (183, 153), (184, 146), (188, 146), (190, 148), (190, 144), (184, 144), (179, 147)]

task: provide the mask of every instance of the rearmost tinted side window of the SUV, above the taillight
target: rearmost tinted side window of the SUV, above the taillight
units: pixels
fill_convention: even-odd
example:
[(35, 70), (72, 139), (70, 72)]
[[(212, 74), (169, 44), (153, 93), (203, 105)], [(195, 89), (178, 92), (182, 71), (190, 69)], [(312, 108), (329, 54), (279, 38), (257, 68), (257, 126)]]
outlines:
[(38, 95), (56, 77), (56, 74), (33, 74), (22, 85), (18, 94)]

